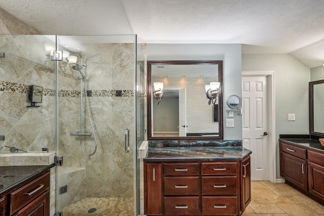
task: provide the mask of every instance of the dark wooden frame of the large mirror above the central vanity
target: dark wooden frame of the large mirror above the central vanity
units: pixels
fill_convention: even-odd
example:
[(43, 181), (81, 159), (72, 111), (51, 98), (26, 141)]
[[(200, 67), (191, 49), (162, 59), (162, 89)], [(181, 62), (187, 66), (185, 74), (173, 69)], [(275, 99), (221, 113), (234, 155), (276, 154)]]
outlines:
[[(152, 65), (218, 65), (218, 81), (220, 82), (219, 93), (218, 93), (218, 112), (219, 112), (219, 129), (218, 135), (215, 136), (190, 136), (190, 137), (152, 137), (152, 126), (151, 126), (151, 98), (152, 98), (152, 87), (151, 87), (151, 66)], [(217, 71), (215, 71), (217, 73)], [(205, 87), (204, 87), (205, 88)], [(223, 61), (147, 61), (147, 140), (149, 141), (170, 141), (170, 140), (222, 140), (223, 139)], [(207, 97), (206, 97), (207, 98)], [(206, 106), (208, 101), (206, 100)]]

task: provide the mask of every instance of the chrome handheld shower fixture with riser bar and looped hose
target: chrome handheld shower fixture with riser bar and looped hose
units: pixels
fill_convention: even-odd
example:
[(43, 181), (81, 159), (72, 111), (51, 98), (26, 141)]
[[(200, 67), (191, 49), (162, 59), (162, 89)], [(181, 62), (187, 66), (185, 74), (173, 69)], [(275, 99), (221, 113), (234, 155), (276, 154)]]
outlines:
[[(96, 153), (97, 151), (97, 138), (96, 138), (96, 134), (95, 134), (95, 129), (94, 129), (94, 126), (93, 126), (93, 123), (92, 123), (92, 119), (91, 119), (91, 115), (90, 115), (90, 107), (89, 107), (89, 100), (88, 100), (88, 94), (87, 94), (87, 81), (86, 81), (86, 76), (85, 74), (83, 73), (83, 69), (84, 68), (87, 68), (87, 64), (84, 64), (83, 63), (83, 58), (80, 54), (78, 54), (79, 56), (79, 59), (80, 59), (80, 64), (75, 64), (72, 66), (72, 69), (73, 70), (77, 70), (79, 71), (80, 73), (80, 76), (78, 76), (77, 78), (80, 80), (80, 130), (76, 133), (70, 133), (71, 136), (78, 136), (80, 138), (80, 147), (81, 147), (81, 150), (82, 152), (87, 155), (87, 156), (91, 156), (93, 154)], [(85, 92), (84, 92), (84, 89), (83, 89), (83, 82), (85, 83)], [(83, 132), (83, 95), (86, 95), (86, 104), (87, 104), (87, 113), (88, 113), (88, 117), (89, 117), (89, 122), (90, 122), (90, 125), (91, 125), (91, 129), (92, 129), (92, 133), (90, 132)], [(92, 153), (86, 153), (85, 150), (84, 150), (84, 147), (83, 147), (83, 137), (84, 136), (91, 136), (93, 135), (93, 138), (94, 138), (94, 143), (95, 143), (95, 147), (94, 147), (94, 150), (92, 151)]]

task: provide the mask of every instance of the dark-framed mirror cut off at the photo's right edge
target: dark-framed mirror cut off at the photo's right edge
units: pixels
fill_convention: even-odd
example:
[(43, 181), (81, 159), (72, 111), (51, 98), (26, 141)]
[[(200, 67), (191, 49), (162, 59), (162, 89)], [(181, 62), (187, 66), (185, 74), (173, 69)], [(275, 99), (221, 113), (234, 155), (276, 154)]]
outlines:
[(324, 137), (324, 79), (309, 82), (309, 134)]

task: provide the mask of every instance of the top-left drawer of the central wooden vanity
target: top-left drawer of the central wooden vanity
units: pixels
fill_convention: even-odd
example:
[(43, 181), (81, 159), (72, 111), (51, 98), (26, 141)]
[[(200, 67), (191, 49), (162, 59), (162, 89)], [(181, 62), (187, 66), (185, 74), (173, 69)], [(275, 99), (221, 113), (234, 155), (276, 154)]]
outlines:
[(165, 176), (198, 176), (199, 163), (164, 163)]

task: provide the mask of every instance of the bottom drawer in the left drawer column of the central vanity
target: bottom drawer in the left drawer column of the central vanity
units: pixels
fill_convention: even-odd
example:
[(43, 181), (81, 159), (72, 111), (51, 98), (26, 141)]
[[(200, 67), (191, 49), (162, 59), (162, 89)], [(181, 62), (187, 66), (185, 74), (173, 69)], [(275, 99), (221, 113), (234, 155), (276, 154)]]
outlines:
[(166, 215), (199, 215), (199, 197), (165, 197)]

